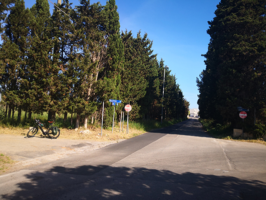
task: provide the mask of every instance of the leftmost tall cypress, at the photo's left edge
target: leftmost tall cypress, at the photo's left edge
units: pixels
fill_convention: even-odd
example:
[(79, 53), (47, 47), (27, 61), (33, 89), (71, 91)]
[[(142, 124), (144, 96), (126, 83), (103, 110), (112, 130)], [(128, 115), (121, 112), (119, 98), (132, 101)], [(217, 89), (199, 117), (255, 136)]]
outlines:
[(28, 19), (31, 17), (30, 11), (25, 9), (24, 1), (16, 0), (6, 20), (6, 36), (2, 45), (2, 50), (10, 54), (2, 57), (5, 69), (1, 78), (1, 86), (5, 100), (9, 104), (8, 116), (10, 116), (10, 109), (18, 108), (18, 122), (27, 91), (23, 81), (27, 71), (26, 59), (29, 51), (30, 30)]

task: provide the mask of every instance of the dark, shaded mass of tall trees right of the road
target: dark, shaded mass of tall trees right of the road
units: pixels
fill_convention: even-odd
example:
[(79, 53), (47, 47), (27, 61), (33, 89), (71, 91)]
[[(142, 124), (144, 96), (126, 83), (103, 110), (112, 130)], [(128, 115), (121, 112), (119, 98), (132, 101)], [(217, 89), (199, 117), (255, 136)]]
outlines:
[(206, 69), (197, 79), (200, 116), (242, 127), (266, 122), (266, 0), (221, 0), (209, 21)]

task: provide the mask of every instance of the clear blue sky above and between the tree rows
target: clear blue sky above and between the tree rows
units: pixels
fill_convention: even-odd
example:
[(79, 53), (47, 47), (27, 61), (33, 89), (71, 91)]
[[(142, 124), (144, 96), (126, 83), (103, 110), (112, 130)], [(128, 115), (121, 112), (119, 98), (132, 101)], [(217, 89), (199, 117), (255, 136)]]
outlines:
[[(35, 0), (24, 0), (31, 7)], [(51, 0), (57, 2), (57, 0)], [(63, 0), (62, 0), (63, 1)], [(106, 0), (90, 0), (90, 3)], [(53, 4), (49, 2), (51, 13)], [(72, 7), (79, 0), (69, 0)], [(208, 50), (210, 36), (207, 34), (208, 21), (215, 14), (220, 0), (116, 0), (120, 16), (120, 29), (132, 30), (136, 36), (140, 30), (153, 40), (154, 53), (169, 66), (171, 74), (190, 102), (190, 108), (198, 108), (198, 87), (196, 77), (203, 69), (204, 57)]]

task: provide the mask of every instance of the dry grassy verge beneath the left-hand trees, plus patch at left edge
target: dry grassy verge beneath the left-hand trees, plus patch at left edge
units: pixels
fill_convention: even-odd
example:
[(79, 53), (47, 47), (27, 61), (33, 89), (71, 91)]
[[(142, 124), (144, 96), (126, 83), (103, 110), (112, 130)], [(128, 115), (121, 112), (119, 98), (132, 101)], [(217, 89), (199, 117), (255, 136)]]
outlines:
[[(46, 115), (36, 115), (38, 119), (46, 119)], [(60, 136), (57, 139), (65, 138), (65, 139), (87, 139), (87, 140), (96, 140), (96, 141), (121, 141), (123, 139), (129, 139), (135, 136), (138, 136), (140, 134), (143, 134), (147, 131), (173, 125), (175, 123), (178, 123), (182, 121), (183, 119), (177, 120), (163, 120), (163, 123), (158, 122), (156, 120), (142, 120), (142, 121), (129, 121), (129, 131), (126, 133), (126, 125), (127, 122), (124, 121), (124, 126), (120, 123), (116, 122), (113, 132), (112, 127), (107, 127), (102, 130), (101, 133), (101, 126), (98, 124), (97, 126), (91, 125), (87, 128), (80, 127), (78, 129), (73, 128), (66, 128), (64, 127), (64, 124), (60, 121), (63, 121), (63, 119), (60, 117), (60, 115), (57, 117), (58, 122), (56, 125), (58, 125), (61, 129)], [(20, 135), (20, 136), (26, 136), (26, 133), (28, 131), (28, 128), (33, 125), (32, 121), (25, 121), (19, 125), (14, 125), (14, 121), (11, 119), (4, 118), (0, 120), (0, 134), (13, 134), (13, 135)], [(41, 132), (38, 132), (35, 136), (41, 137)], [(1, 152), (0, 152), (1, 153)], [(11, 168), (12, 164), (14, 164), (15, 161), (11, 160), (8, 156), (4, 154), (0, 154), (0, 174), (6, 172), (9, 168)]]

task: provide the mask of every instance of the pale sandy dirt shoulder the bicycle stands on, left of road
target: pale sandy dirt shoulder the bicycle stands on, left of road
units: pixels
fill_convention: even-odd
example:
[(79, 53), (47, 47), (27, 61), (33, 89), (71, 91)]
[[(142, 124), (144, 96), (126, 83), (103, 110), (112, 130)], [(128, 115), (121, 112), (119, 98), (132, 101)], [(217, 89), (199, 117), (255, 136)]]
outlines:
[(113, 133), (103, 130), (101, 134), (100, 128), (61, 129), (57, 139), (50, 139), (39, 132), (28, 138), (28, 129), (0, 127), (0, 174), (101, 148), (145, 132), (130, 129), (126, 134), (125, 129), (119, 130), (115, 127)]

